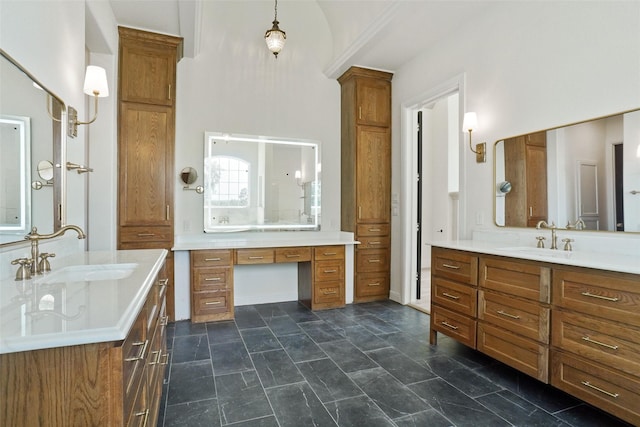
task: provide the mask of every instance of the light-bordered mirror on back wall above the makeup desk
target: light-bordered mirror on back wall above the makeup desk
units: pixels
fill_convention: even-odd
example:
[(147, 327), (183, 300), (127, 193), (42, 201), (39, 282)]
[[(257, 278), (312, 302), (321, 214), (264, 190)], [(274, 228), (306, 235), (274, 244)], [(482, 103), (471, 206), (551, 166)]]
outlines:
[(205, 133), (204, 231), (318, 230), (320, 145)]

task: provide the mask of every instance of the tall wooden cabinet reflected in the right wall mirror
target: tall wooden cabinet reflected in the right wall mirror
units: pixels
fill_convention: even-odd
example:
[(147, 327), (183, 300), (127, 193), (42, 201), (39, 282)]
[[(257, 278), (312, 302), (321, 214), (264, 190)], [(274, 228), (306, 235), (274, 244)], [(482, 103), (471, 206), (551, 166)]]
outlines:
[(537, 132), (505, 140), (505, 225), (535, 227), (547, 220), (547, 134)]

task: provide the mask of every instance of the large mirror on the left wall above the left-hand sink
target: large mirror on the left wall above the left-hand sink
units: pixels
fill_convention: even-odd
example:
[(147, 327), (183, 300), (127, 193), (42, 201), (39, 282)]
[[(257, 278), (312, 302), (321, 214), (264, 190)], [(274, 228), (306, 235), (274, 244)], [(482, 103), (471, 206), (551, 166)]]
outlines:
[(61, 226), (62, 171), (44, 180), (38, 165), (61, 164), (64, 104), (0, 49), (0, 244)]

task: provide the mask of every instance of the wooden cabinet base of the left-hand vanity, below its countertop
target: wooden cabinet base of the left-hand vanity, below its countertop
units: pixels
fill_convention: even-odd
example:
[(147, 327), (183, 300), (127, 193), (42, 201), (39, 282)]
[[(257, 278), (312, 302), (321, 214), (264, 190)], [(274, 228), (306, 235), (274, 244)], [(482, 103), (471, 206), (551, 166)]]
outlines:
[(163, 267), (126, 338), (0, 355), (11, 426), (156, 425), (168, 356)]

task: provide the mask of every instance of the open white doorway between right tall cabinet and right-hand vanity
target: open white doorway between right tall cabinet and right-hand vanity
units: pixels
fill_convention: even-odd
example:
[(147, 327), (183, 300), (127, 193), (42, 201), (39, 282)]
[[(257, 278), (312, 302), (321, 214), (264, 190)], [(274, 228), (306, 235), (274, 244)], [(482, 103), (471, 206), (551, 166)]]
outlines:
[(415, 112), (416, 270), (410, 305), (429, 313), (431, 246), (457, 237), (459, 187), (459, 95), (457, 91)]

